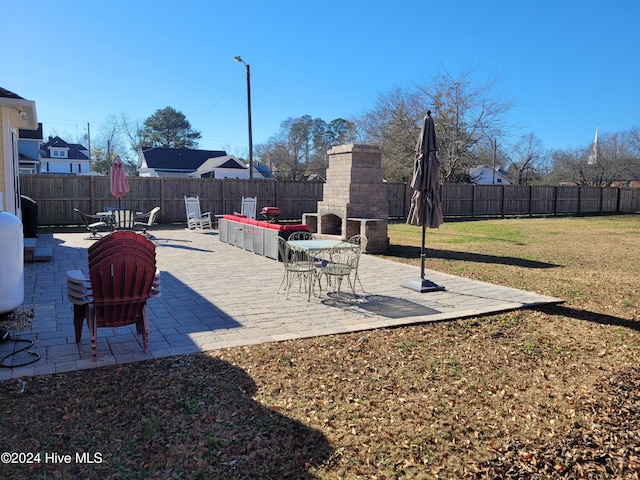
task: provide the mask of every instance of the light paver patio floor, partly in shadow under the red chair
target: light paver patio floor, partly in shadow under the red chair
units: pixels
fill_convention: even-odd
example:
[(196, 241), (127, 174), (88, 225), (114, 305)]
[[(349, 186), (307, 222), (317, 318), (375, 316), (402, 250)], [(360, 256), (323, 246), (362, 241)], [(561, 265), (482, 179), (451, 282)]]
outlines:
[[(53, 247), (49, 262), (25, 264), (24, 307), (33, 308), (30, 328), (12, 331), (35, 341), (40, 360), (0, 369), (0, 380), (115, 365), (150, 358), (216, 350), (263, 342), (375, 328), (450, 320), (517, 308), (558, 303), (560, 299), (428, 270), (427, 278), (445, 287), (418, 293), (401, 286), (420, 276), (420, 268), (363, 255), (359, 296), (311, 296), (292, 290), (276, 293), (282, 264), (218, 240), (217, 232), (183, 229), (154, 231), (161, 270), (159, 298), (147, 304), (149, 354), (135, 327), (98, 330), (98, 358), (91, 358), (89, 331), (75, 343), (66, 272), (87, 273), (84, 233), (41, 234), (39, 245)], [(347, 288), (346, 291), (349, 291)], [(316, 292), (317, 293), (317, 292)], [(0, 356), (11, 342), (0, 345)]]

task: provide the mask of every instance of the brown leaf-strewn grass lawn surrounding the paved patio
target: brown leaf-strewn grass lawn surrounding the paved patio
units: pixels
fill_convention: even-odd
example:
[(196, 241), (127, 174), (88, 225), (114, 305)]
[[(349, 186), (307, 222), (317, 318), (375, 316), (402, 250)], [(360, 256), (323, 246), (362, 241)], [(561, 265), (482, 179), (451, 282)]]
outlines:
[[(389, 238), (419, 265), (419, 227)], [(426, 243), (429, 269), (565, 303), (5, 381), (3, 451), (87, 456), (0, 478), (639, 478), (640, 215)]]

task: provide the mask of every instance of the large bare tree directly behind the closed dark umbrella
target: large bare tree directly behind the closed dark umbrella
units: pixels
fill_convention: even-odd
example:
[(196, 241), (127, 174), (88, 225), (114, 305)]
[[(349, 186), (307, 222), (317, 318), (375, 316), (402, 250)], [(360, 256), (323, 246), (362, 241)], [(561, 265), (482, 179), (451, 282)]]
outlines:
[(387, 180), (411, 178), (427, 110), (436, 124), (443, 181), (468, 180), (480, 151), (505, 133), (504, 118), (511, 108), (495, 93), (495, 81), (475, 86), (470, 77), (471, 72), (457, 78), (437, 74), (411, 90), (394, 88), (379, 95), (374, 108), (357, 120), (362, 138), (382, 147)]

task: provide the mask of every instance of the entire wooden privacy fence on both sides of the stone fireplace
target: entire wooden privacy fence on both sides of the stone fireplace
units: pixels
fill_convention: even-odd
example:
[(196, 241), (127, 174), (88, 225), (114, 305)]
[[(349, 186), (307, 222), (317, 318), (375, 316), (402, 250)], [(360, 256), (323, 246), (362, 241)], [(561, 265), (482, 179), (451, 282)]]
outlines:
[[(386, 183), (390, 218), (405, 218), (411, 188)], [(140, 178), (130, 177), (131, 192), (122, 207), (148, 212), (160, 207), (160, 223), (185, 222), (184, 196), (197, 195), (203, 211), (212, 214), (240, 210), (242, 197), (258, 197), (262, 207), (277, 206), (281, 219), (300, 220), (317, 212), (323, 183), (273, 180)], [(75, 225), (74, 208), (96, 213), (117, 206), (109, 191), (109, 177), (78, 175), (21, 175), (20, 189), (37, 202), (38, 224)], [(445, 217), (501, 217), (635, 213), (640, 211), (640, 189), (576, 186), (502, 186), (446, 184), (441, 192)]]

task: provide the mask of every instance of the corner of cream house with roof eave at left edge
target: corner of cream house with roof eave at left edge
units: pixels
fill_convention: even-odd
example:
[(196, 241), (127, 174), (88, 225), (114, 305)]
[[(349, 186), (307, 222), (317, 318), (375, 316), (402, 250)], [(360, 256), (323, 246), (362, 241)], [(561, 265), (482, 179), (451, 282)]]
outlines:
[(20, 129), (36, 130), (36, 104), (0, 87), (0, 193), (3, 210), (22, 218), (18, 137)]

